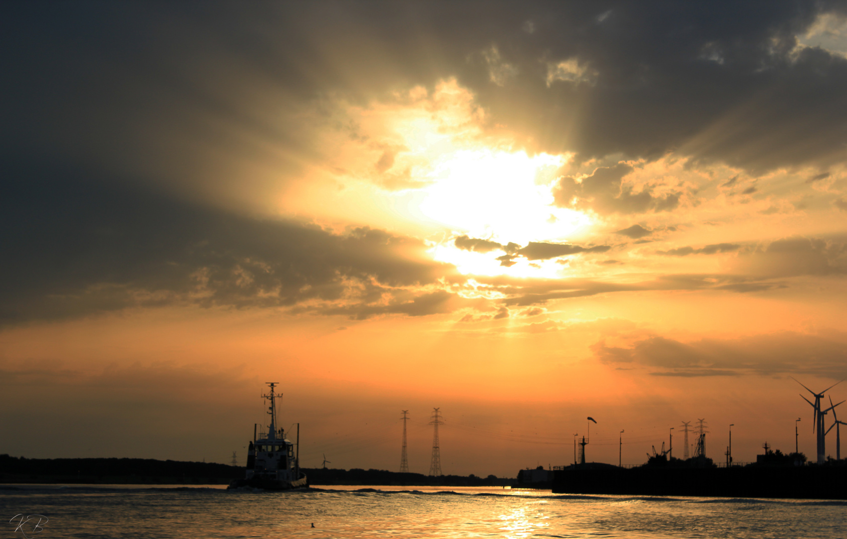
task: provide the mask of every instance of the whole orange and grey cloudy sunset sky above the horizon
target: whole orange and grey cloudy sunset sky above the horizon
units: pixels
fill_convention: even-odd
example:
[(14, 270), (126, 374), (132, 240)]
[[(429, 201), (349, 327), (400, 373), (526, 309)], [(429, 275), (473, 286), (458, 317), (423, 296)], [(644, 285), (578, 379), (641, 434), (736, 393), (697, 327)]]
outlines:
[(446, 474), (700, 418), (813, 458), (844, 2), (7, 2), (0, 42), (0, 453), (243, 464), (276, 381), (307, 467), (399, 470), (407, 409), (427, 473), (434, 407)]

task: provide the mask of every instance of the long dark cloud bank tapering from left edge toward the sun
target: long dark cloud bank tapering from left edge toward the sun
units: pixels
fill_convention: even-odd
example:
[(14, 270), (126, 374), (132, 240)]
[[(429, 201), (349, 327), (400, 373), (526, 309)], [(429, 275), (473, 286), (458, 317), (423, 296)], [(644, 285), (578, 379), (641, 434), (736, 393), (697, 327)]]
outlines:
[[(453, 273), (423, 242), (385, 231), (337, 235), (33, 169), (2, 170), (16, 180), (0, 199), (5, 323), (171, 303), (354, 311)], [(386, 312), (435, 312), (436, 299), (412, 294)]]

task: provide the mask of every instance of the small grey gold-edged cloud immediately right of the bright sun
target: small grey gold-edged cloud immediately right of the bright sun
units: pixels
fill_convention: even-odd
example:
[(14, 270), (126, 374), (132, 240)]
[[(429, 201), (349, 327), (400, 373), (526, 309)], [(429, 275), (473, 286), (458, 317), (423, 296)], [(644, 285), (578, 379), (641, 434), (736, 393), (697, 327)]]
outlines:
[(562, 176), (553, 187), (556, 206), (561, 208), (593, 209), (598, 214), (639, 214), (676, 208), (676, 192), (662, 196), (653, 194), (649, 186), (639, 192), (623, 183), (623, 176), (633, 168), (619, 163), (612, 167), (599, 167), (582, 180)]

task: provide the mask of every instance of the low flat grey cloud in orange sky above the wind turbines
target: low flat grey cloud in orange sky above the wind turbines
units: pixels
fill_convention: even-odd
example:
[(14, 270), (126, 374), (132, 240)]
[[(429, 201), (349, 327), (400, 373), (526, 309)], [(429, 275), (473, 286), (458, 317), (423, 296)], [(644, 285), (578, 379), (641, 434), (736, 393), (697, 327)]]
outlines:
[(655, 375), (847, 375), (847, 334), (841, 332), (809, 335), (786, 331), (695, 342), (632, 334), (621, 346), (610, 345), (604, 338), (591, 350), (602, 363), (639, 365), (654, 370)]

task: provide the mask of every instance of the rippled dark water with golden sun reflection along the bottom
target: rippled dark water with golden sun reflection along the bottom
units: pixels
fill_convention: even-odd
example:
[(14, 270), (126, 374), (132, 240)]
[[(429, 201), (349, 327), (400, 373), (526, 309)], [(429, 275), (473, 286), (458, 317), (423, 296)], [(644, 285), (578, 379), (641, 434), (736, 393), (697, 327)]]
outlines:
[[(3, 539), (847, 536), (843, 501), (573, 496), (469, 487), (228, 492), (222, 486), (0, 485), (0, 511)], [(36, 514), (49, 520), (30, 518)]]

